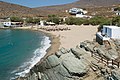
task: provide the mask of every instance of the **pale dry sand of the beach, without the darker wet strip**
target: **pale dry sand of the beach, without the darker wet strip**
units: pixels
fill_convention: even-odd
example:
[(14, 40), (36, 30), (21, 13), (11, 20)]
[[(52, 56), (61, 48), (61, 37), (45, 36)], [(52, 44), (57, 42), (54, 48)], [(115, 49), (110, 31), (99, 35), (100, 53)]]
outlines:
[(47, 33), (56, 35), (60, 38), (60, 47), (59, 48), (73, 48), (76, 45), (79, 45), (80, 42), (85, 40), (92, 41), (95, 38), (98, 26), (92, 25), (57, 25), (57, 27), (69, 27), (68, 31), (45, 31)]

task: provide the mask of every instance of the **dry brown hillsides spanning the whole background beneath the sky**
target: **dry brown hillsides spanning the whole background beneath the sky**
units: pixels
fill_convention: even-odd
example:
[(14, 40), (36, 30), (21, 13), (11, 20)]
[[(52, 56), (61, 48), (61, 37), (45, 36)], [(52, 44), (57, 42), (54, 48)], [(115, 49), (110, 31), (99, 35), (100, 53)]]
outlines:
[(29, 8), (0, 1), (0, 18), (9, 16), (41, 17), (48, 16), (49, 14), (69, 16), (69, 14), (66, 13), (66, 10), (72, 7), (86, 8), (89, 14), (96, 12), (98, 13), (97, 15), (111, 15), (111, 8), (113, 5), (118, 4), (120, 4), (120, 0), (78, 0), (70, 4)]

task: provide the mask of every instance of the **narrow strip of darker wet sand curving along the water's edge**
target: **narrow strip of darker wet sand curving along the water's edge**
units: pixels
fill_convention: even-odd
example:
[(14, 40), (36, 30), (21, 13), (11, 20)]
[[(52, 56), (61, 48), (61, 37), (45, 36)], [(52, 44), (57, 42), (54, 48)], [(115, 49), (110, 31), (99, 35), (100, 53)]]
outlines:
[[(56, 37), (56, 35), (53, 35), (52, 33), (48, 33), (46, 31), (42, 31), (40, 29), (37, 30), (37, 28), (30, 28), (30, 27), (1, 28), (0, 30), (7, 30), (7, 29), (12, 29), (12, 30), (31, 30), (31, 31), (36, 31), (36, 32), (42, 32), (46, 37), (49, 37), (50, 47), (46, 50), (45, 55), (30, 69), (30, 71), (32, 69), (34, 69), (35, 66), (39, 65), (42, 62), (42, 60), (44, 60), (46, 57), (48, 57), (48, 56), (52, 55), (53, 53), (55, 53), (56, 51), (58, 51), (58, 49), (60, 47), (60, 38)], [(25, 76), (27, 76), (30, 73), (30, 71), (28, 73), (26, 73)], [(22, 76), (19, 76), (19, 77), (22, 77)]]

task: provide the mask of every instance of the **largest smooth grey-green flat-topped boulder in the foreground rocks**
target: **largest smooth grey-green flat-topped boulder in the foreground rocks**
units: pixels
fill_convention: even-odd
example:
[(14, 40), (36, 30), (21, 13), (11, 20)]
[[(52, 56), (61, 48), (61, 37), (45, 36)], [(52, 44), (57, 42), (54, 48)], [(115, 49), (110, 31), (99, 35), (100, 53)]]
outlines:
[(75, 57), (67, 57), (62, 62), (63, 66), (71, 75), (84, 76), (88, 71), (88, 66)]

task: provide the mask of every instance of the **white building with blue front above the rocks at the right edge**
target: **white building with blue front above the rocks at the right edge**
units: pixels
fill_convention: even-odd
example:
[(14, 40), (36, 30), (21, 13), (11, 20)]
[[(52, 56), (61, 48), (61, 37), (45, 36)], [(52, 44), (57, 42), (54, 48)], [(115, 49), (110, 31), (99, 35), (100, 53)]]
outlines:
[(96, 41), (103, 44), (103, 41), (112, 39), (120, 39), (120, 27), (118, 26), (103, 26), (101, 32), (97, 32)]

